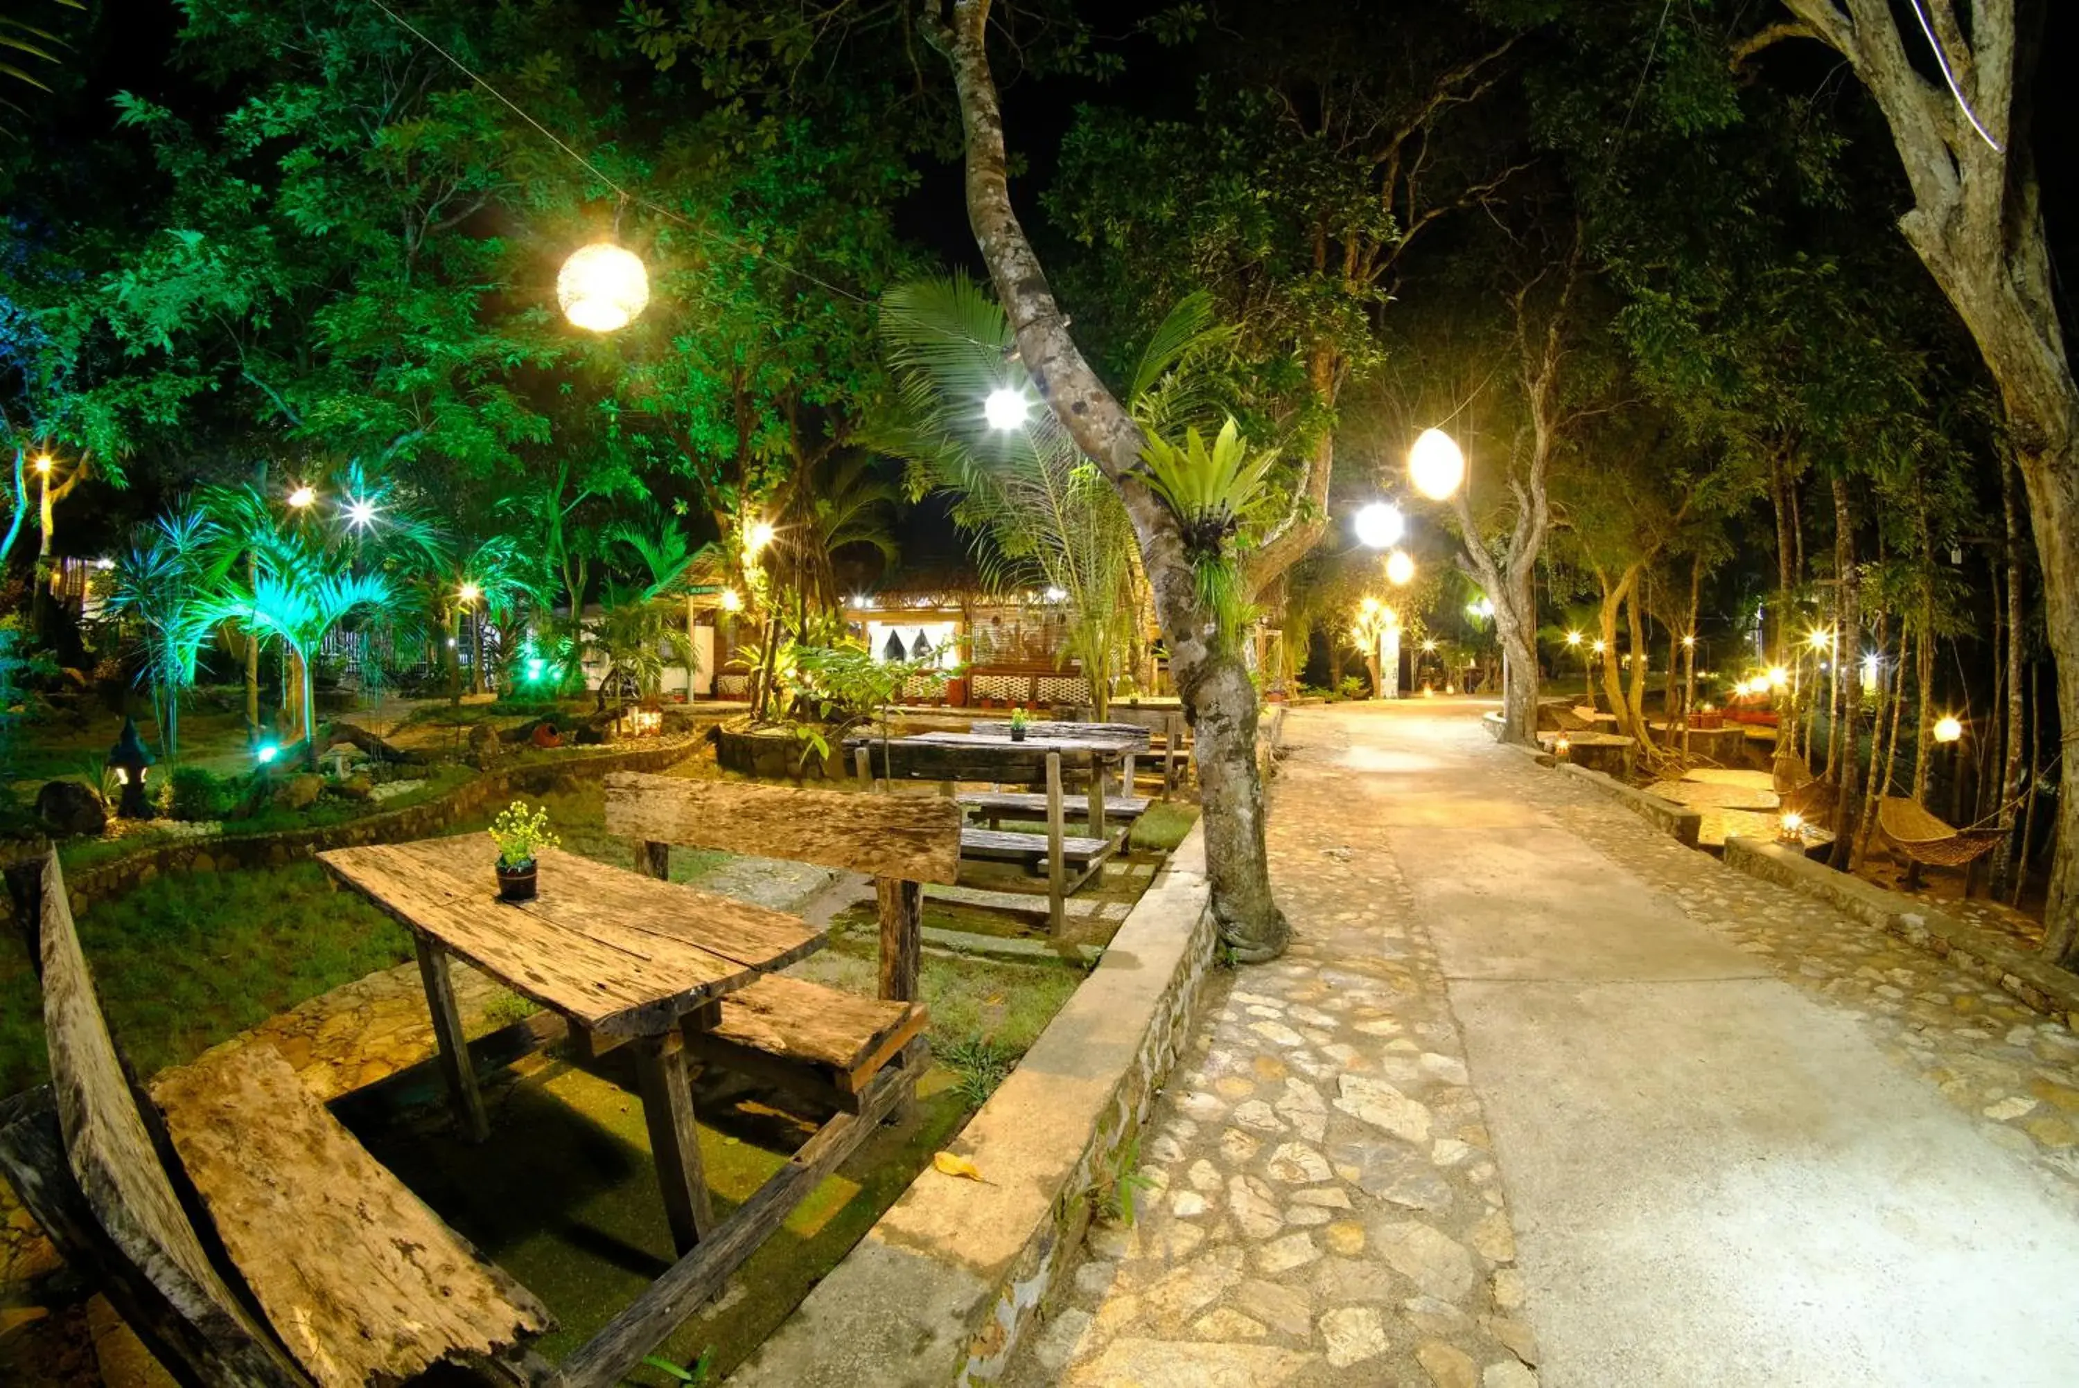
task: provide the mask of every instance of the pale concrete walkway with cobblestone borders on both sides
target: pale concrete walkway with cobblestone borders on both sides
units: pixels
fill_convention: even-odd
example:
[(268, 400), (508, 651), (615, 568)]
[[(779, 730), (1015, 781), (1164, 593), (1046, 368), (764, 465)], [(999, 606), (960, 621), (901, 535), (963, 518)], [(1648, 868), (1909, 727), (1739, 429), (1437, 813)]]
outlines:
[(2079, 1382), (2062, 1026), (1464, 706), (1287, 742), (1295, 950), (1214, 1002), (1143, 1147), (1166, 1203), (1094, 1236), (1021, 1382)]

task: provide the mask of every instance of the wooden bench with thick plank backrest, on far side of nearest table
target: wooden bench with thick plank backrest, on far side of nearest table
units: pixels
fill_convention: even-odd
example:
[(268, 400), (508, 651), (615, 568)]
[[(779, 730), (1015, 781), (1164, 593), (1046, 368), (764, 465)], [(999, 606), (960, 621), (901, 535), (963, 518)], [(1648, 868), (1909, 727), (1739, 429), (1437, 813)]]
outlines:
[(881, 1068), (923, 1062), (917, 999), (923, 883), (960, 871), (960, 810), (923, 796), (780, 790), (622, 771), (605, 777), (607, 831), (634, 842), (636, 869), (665, 877), (672, 846), (788, 858), (875, 879), (879, 997), (767, 975), (686, 1026), (686, 1049), (842, 1112), (859, 1112)]

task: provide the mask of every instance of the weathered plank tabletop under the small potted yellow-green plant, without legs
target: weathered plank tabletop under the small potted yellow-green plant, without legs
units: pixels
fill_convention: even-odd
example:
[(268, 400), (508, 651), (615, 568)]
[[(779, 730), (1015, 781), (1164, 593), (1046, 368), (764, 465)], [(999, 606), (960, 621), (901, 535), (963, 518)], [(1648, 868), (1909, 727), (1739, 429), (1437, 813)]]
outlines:
[(667, 1033), (825, 943), (796, 916), (553, 848), (538, 856), (541, 896), (501, 902), (482, 833), (318, 862), (441, 950), (609, 1037)]

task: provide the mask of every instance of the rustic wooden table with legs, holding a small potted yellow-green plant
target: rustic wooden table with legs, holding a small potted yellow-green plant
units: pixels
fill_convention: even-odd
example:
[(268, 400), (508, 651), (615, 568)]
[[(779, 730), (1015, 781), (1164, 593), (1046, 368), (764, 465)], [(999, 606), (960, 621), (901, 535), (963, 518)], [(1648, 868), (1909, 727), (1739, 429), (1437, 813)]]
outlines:
[(574, 1031), (630, 1041), (665, 1216), (680, 1253), (713, 1222), (682, 1026), (726, 993), (823, 947), (796, 916), (543, 850), (541, 893), (501, 902), (480, 833), (318, 854), (339, 881), (412, 931), (441, 1070), (464, 1130), (489, 1135), (455, 1008), (449, 956), (559, 1012)]

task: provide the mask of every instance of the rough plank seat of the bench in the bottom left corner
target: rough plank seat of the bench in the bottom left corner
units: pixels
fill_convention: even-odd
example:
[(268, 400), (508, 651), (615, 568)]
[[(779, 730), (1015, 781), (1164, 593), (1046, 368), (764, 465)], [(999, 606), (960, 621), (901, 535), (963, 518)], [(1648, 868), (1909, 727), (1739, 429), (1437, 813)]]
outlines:
[(383, 1170), (264, 1041), (158, 1076), (181, 1166), (260, 1309), (324, 1388), (493, 1357), (549, 1313)]

